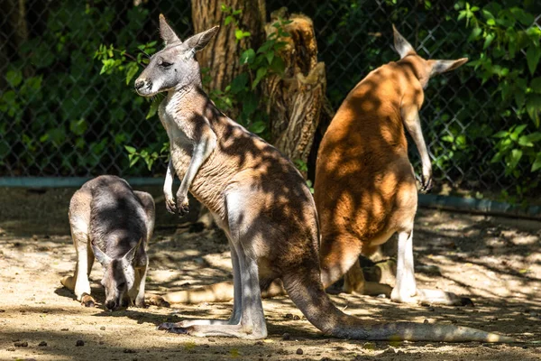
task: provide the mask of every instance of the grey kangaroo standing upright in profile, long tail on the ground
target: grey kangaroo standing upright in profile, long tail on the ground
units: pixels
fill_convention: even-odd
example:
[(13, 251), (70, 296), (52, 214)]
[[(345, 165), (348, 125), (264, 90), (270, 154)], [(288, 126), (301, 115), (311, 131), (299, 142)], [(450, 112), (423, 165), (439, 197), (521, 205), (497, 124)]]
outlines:
[[(280, 278), (289, 297), (327, 335), (356, 339), (511, 341), (478, 329), (412, 322), (367, 324), (336, 309), (321, 284), (316, 207), (305, 180), (278, 150), (222, 114), (201, 88), (194, 55), (218, 31), (185, 42), (160, 15), (165, 48), (151, 57), (135, 89), (167, 92), (159, 115), (170, 138), (165, 196), (170, 211), (188, 211), (188, 190), (229, 240), (234, 307), (228, 320), (190, 319), (160, 329), (200, 337), (265, 338), (261, 290)], [(182, 180), (177, 199), (173, 174)]]

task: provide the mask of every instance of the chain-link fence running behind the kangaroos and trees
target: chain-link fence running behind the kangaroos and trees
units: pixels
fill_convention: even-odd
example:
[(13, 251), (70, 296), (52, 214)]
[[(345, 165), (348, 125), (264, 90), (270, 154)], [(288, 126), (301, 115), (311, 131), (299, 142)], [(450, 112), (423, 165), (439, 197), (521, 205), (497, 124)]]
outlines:
[[(391, 23), (427, 58), (479, 58), (468, 42), (472, 29), (458, 21), (456, 1), (268, 0), (267, 13), (287, 6), (313, 19), (327, 95), (334, 107), (371, 70), (397, 60)], [(158, 40), (158, 14), (186, 36), (190, 3), (184, 1), (0, 1), (0, 176), (153, 176), (130, 167), (124, 145), (159, 149), (167, 137), (148, 104), (125, 79), (100, 74), (100, 44), (137, 46)], [(526, 29), (528, 26), (518, 24)], [(539, 17), (529, 26), (540, 27)], [(210, 69), (212, 73), (212, 69)], [(133, 82), (133, 79), (132, 79)], [(515, 108), (500, 108), (494, 78), (471, 67), (431, 80), (421, 117), (436, 179), (466, 190), (514, 190), (505, 160), (491, 162), (491, 135), (518, 122)], [(527, 130), (528, 132), (528, 130)], [(417, 153), (411, 159), (416, 162)], [(517, 169), (534, 177), (528, 164)], [(537, 177), (538, 179), (538, 177)]]

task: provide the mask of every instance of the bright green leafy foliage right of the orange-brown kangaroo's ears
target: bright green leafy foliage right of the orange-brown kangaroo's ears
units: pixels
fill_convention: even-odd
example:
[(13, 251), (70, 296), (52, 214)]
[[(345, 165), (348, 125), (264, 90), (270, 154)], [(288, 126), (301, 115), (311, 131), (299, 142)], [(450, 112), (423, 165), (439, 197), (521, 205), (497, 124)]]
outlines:
[[(541, 29), (534, 14), (517, 2), (491, 2), (482, 7), (459, 2), (458, 19), (472, 29), (468, 38), (476, 50), (473, 67), (481, 84), (491, 87), (494, 110), (502, 118), (515, 118), (509, 128), (492, 135), (496, 153), (492, 163), (503, 162), (505, 175), (517, 181), (518, 195), (539, 185), (541, 169)], [(524, 165), (520, 167), (519, 165)]]

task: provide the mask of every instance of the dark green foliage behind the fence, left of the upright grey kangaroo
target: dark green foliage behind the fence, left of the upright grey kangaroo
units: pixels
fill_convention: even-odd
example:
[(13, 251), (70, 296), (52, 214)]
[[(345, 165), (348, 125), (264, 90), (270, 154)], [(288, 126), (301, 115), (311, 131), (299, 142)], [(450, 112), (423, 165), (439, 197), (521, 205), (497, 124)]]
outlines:
[[(109, 39), (136, 49), (133, 34), (147, 22), (149, 11), (102, 2), (60, 3), (48, 8), (43, 31), (23, 43), (20, 59), (8, 65), (8, 88), (0, 95), (0, 111), (6, 115), (0, 121), (0, 160), (22, 174), (124, 171), (130, 160), (116, 157), (124, 144), (161, 144), (164, 137), (140, 115), (142, 97), (126, 91), (143, 54), (128, 62), (127, 52), (100, 44)], [(151, 51), (153, 45), (140, 49)], [(93, 56), (104, 61), (101, 71), (113, 79), (100, 76)], [(113, 74), (115, 69), (123, 74)], [(132, 173), (143, 169), (134, 167)]]

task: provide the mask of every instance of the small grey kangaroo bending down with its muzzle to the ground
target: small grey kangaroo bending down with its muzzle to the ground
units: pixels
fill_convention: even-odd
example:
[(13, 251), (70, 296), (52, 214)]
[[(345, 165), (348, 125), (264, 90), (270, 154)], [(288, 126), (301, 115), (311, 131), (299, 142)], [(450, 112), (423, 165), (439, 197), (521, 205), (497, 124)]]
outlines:
[(105, 309), (145, 307), (146, 248), (154, 229), (154, 199), (126, 180), (102, 175), (88, 180), (69, 202), (69, 226), (77, 251), (73, 276), (60, 282), (78, 301), (94, 307), (88, 276), (94, 257), (102, 264)]

